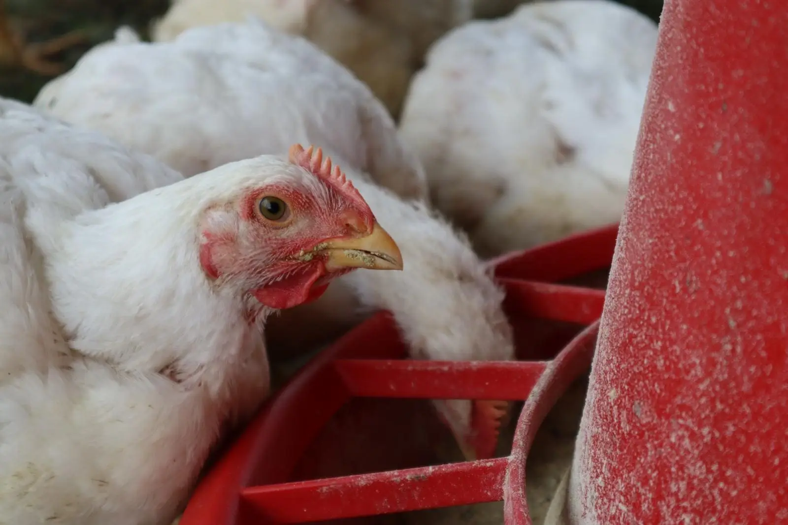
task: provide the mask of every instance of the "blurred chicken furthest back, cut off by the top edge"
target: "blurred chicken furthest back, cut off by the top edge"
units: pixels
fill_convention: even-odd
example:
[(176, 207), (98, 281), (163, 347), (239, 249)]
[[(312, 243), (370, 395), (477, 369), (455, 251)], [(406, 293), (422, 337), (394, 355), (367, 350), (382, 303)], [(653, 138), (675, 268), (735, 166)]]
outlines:
[(189, 28), (259, 17), (336, 58), (396, 118), (427, 48), (472, 13), (471, 0), (173, 0), (151, 34), (164, 42)]

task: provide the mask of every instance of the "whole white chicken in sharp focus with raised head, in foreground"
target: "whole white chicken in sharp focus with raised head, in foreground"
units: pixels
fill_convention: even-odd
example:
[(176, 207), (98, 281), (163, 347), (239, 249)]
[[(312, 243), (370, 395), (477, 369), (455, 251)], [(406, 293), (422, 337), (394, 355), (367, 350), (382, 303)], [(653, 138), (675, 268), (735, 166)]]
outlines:
[(316, 157), (183, 179), (0, 100), (0, 523), (170, 523), (267, 394), (266, 316), (402, 268)]

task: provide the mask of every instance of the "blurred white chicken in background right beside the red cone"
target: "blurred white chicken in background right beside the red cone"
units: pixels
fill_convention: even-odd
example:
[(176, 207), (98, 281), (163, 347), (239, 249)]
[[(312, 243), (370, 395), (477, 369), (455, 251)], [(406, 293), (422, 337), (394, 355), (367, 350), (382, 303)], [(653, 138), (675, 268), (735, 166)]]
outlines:
[(656, 25), (604, 0), (561, 0), (440, 39), (400, 134), (433, 205), (479, 253), (520, 250), (623, 213)]

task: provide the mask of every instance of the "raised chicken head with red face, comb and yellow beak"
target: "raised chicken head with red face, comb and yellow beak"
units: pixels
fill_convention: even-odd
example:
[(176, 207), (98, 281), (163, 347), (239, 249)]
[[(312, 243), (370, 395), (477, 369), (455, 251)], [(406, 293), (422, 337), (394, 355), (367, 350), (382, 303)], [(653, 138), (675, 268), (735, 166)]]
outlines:
[(206, 209), (199, 261), (209, 279), (253, 296), (257, 309), (287, 309), (319, 298), (355, 268), (403, 268), (396, 242), (322, 150), (296, 144), (289, 162)]

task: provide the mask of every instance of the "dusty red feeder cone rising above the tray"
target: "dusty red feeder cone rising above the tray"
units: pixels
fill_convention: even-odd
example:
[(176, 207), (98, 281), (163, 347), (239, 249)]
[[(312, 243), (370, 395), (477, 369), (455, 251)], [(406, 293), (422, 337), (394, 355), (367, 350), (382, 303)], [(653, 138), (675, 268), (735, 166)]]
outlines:
[(788, 523), (788, 8), (667, 0), (573, 524)]

